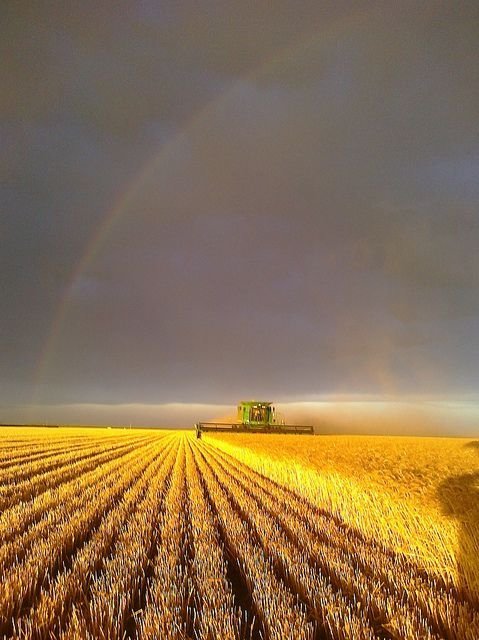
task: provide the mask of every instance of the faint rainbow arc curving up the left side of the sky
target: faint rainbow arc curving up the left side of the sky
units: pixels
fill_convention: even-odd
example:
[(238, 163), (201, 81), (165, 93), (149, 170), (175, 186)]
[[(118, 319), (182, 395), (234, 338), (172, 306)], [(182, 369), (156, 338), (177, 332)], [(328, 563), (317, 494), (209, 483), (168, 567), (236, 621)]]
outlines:
[(194, 132), (200, 130), (202, 127), (207, 127), (211, 116), (214, 115), (217, 109), (222, 105), (225, 105), (227, 101), (234, 96), (235, 90), (242, 83), (258, 81), (262, 77), (267, 77), (268, 74), (271, 74), (275, 68), (291, 62), (295, 58), (297, 59), (304, 55), (317, 53), (318, 47), (323, 48), (328, 46), (334, 43), (338, 38), (348, 34), (353, 29), (361, 28), (373, 11), (375, 11), (374, 8), (361, 8), (347, 16), (342, 16), (332, 21), (322, 30), (315, 30), (312, 33), (308, 32), (307, 34), (303, 34), (292, 44), (281, 49), (279, 52), (275, 52), (272, 56), (262, 61), (261, 64), (253, 71), (249, 71), (240, 79), (235, 80), (219, 96), (216, 96), (213, 100), (197, 111), (184, 124), (183, 128), (172, 137), (171, 140), (163, 144), (127, 185), (126, 189), (119, 193), (113, 206), (105, 214), (103, 220), (86, 244), (85, 251), (72, 269), (68, 282), (64, 288), (61, 301), (57, 306), (44, 346), (40, 350), (37, 358), (33, 379), (32, 404), (37, 404), (41, 400), (42, 382), (45, 379), (46, 373), (50, 367), (50, 361), (55, 353), (56, 342), (68, 314), (71, 294), (75, 284), (101, 253), (112, 230), (121, 222), (121, 220), (131, 214), (130, 206), (134, 203), (135, 197), (141, 193), (142, 188), (153, 176), (158, 175), (159, 172), (167, 166), (168, 160), (171, 158), (175, 149), (177, 149), (180, 144), (187, 142)]

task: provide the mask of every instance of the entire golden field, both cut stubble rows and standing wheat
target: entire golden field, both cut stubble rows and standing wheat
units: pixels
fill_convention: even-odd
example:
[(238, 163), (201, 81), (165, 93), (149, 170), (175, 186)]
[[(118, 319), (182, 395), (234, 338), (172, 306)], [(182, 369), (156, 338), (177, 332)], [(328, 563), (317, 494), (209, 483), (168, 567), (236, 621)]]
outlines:
[(0, 637), (479, 638), (477, 442), (0, 435)]

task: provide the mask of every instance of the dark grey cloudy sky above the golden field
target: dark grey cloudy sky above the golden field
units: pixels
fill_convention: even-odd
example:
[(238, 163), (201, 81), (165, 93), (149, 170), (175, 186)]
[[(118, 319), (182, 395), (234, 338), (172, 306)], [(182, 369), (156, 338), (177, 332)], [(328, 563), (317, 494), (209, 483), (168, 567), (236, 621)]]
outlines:
[(0, 59), (0, 421), (477, 400), (477, 2), (7, 1)]

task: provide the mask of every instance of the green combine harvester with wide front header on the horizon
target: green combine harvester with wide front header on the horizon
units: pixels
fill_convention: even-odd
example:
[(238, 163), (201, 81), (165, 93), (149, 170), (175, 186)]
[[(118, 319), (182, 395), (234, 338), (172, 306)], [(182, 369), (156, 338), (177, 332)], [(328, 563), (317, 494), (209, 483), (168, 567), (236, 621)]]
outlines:
[(278, 423), (276, 410), (271, 402), (249, 400), (238, 405), (236, 422), (197, 422), (196, 437), (207, 431), (225, 431), (231, 433), (304, 433), (314, 435), (311, 425)]

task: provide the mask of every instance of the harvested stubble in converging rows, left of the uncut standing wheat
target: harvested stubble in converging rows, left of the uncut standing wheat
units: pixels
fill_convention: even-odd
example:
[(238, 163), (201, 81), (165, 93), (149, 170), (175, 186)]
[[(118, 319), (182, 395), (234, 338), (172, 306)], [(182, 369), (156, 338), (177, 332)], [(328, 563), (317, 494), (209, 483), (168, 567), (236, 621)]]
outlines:
[(46, 446), (58, 468), (22, 449), (31, 473), (17, 486), (28, 478), (31, 493), (0, 515), (0, 637), (479, 637), (474, 602), (452, 582), (212, 441), (82, 447), (62, 458)]

